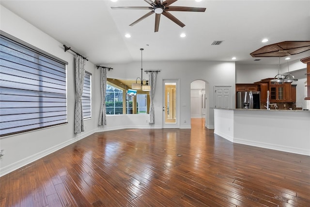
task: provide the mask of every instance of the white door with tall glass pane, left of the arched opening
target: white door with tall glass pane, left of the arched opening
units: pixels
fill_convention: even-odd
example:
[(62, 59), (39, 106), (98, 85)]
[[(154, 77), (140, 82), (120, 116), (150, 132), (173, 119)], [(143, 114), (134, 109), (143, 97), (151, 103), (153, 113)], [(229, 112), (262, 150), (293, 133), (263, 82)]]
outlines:
[(163, 128), (180, 128), (179, 80), (163, 80)]

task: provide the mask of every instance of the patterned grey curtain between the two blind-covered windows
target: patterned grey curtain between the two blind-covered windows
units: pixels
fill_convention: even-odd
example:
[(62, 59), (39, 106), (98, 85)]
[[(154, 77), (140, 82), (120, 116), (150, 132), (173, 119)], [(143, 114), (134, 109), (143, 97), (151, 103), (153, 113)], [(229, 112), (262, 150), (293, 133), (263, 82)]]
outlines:
[(84, 131), (82, 94), (85, 74), (85, 59), (76, 55), (76, 109), (74, 117), (74, 133)]

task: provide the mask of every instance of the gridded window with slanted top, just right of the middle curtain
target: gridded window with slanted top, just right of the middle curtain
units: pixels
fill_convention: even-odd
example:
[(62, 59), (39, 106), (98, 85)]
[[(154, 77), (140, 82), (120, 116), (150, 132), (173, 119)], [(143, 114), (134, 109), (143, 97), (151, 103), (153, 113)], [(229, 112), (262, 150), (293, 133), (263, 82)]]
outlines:
[(106, 113), (123, 114), (123, 90), (107, 84)]

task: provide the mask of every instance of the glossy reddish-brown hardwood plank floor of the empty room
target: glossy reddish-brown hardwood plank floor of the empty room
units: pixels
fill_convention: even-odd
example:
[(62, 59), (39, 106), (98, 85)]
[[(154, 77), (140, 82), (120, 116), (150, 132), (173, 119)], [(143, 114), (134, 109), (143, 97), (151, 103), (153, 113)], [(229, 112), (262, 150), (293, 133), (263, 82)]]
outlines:
[(203, 121), (95, 133), (2, 176), (0, 206), (310, 207), (310, 156), (231, 143)]

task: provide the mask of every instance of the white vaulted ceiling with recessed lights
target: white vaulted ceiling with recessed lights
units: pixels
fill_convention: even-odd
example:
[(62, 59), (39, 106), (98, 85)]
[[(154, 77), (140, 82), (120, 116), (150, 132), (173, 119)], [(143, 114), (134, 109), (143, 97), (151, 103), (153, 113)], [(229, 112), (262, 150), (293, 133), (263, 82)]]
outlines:
[[(93, 64), (143, 61), (232, 61), (237, 64), (278, 64), (279, 58), (249, 54), (282, 41), (310, 41), (310, 0), (178, 0), (171, 6), (205, 7), (202, 12), (171, 12), (181, 28), (161, 15), (134, 26), (148, 10), (112, 10), (111, 6), (149, 6), (144, 0), (1, 0), (0, 4)], [(185, 32), (186, 37), (179, 35)], [(131, 38), (126, 38), (126, 33)], [(262, 39), (267, 38), (267, 43)], [(211, 46), (215, 40), (224, 40)], [(310, 56), (293, 55), (290, 61)], [(283, 58), (283, 63), (284, 63)]]

